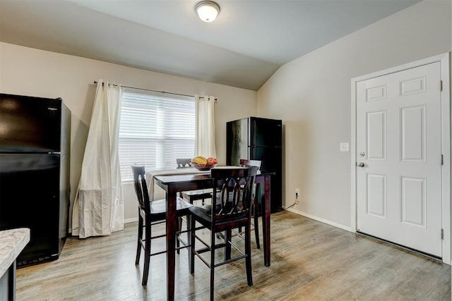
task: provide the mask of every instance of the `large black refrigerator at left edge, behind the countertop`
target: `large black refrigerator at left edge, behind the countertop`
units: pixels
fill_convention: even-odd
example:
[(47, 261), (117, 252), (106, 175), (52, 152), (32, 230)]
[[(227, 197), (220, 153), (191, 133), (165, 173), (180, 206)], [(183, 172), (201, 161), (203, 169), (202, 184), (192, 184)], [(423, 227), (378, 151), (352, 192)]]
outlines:
[(0, 94), (0, 230), (30, 228), (17, 266), (58, 259), (68, 232), (71, 112)]

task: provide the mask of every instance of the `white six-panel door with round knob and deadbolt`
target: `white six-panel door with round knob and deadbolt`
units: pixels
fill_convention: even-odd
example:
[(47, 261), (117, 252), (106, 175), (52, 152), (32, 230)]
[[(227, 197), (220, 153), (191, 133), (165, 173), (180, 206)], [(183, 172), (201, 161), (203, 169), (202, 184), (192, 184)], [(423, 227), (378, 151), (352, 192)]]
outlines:
[(357, 82), (357, 230), (442, 257), (441, 69)]

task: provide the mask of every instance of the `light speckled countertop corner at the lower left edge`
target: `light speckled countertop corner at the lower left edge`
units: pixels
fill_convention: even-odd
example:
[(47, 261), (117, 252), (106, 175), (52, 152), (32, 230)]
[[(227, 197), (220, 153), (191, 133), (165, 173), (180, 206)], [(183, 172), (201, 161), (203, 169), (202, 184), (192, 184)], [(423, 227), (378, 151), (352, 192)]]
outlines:
[(0, 231), (0, 276), (8, 271), (29, 241), (30, 229), (28, 228)]

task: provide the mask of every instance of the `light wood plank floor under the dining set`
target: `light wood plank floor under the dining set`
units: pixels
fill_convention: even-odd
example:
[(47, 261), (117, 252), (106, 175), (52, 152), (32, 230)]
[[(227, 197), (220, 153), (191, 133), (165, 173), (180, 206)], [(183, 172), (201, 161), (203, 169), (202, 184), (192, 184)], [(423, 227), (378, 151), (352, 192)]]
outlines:
[[(221, 266), (216, 300), (451, 300), (451, 266), (289, 211), (271, 221), (271, 266), (253, 238), (254, 285), (243, 260)], [(165, 254), (152, 257), (141, 286), (136, 227), (69, 238), (57, 261), (18, 269), (17, 300), (166, 300)], [(208, 268), (196, 259), (191, 276), (187, 257), (182, 250), (176, 259), (176, 299), (208, 300)]]

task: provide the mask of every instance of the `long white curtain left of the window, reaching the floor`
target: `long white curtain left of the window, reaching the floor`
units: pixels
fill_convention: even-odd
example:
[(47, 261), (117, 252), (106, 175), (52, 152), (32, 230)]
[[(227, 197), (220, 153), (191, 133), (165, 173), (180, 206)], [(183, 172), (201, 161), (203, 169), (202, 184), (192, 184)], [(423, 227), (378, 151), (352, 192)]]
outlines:
[(121, 86), (97, 80), (80, 183), (73, 206), (72, 234), (79, 238), (124, 229), (124, 197), (118, 159)]

